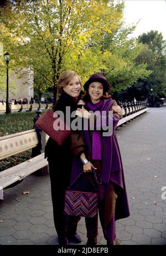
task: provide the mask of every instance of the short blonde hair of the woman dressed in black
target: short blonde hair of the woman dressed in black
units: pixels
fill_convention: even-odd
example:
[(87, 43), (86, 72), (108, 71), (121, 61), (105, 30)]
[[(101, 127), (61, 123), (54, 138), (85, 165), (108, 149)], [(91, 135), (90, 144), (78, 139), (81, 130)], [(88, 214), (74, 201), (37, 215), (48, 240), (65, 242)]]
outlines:
[(57, 83), (58, 93), (64, 93), (63, 88), (70, 83), (71, 79), (74, 78), (74, 76), (76, 76), (77, 79), (79, 79), (80, 85), (82, 87), (80, 76), (75, 71), (73, 70), (65, 71), (59, 76), (59, 79), (58, 79), (58, 83)]

